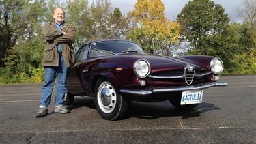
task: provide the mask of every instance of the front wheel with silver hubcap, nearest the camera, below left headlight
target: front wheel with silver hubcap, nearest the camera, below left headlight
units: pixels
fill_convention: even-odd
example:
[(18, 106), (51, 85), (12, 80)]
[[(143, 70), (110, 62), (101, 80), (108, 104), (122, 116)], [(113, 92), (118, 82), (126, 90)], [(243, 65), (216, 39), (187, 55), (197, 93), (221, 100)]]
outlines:
[(94, 97), (96, 109), (103, 119), (118, 120), (124, 117), (128, 104), (105, 78), (99, 78), (96, 82)]

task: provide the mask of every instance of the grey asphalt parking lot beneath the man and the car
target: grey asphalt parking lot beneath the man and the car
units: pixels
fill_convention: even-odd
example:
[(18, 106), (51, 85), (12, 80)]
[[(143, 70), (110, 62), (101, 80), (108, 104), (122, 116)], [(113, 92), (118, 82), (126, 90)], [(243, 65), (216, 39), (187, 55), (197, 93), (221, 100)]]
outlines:
[[(256, 76), (221, 76), (193, 111), (169, 101), (132, 102), (125, 119), (106, 121), (94, 99), (75, 98), (71, 113), (35, 118), (42, 84), (0, 85), (0, 143), (256, 143)], [(53, 96), (55, 95), (55, 90)]]

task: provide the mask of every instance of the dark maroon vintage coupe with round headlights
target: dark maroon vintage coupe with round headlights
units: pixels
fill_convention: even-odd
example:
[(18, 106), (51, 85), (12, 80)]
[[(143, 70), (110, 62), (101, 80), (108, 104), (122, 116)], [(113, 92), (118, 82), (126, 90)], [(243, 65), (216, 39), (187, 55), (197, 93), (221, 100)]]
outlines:
[(74, 96), (94, 96), (103, 119), (121, 119), (132, 100), (169, 100), (177, 109), (193, 109), (203, 89), (217, 83), (223, 62), (216, 57), (149, 55), (135, 42), (95, 40), (79, 48), (69, 70), (65, 104)]

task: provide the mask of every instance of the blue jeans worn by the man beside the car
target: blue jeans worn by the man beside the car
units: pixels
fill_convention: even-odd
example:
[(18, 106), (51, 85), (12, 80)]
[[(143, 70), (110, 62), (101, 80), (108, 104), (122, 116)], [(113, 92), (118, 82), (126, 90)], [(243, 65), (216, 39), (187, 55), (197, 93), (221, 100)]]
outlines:
[(68, 68), (66, 68), (63, 57), (59, 57), (59, 66), (44, 66), (44, 85), (42, 87), (42, 98), (40, 108), (48, 109), (53, 93), (53, 85), (57, 76), (57, 87), (55, 96), (55, 107), (63, 106), (63, 98), (66, 92), (66, 78)]

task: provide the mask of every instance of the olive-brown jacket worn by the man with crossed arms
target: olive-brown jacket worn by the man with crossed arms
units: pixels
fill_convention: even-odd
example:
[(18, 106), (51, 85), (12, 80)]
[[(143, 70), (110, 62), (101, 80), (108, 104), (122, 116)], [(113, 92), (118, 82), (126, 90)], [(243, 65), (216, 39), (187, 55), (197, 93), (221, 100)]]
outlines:
[[(66, 34), (63, 34), (63, 32), (66, 32)], [(67, 68), (72, 66), (74, 64), (74, 48), (72, 46), (75, 36), (74, 26), (64, 22), (61, 31), (58, 31), (54, 22), (46, 23), (42, 27), (42, 34), (46, 40), (42, 66), (59, 65), (58, 43), (61, 43), (61, 55), (63, 56), (65, 66)]]

